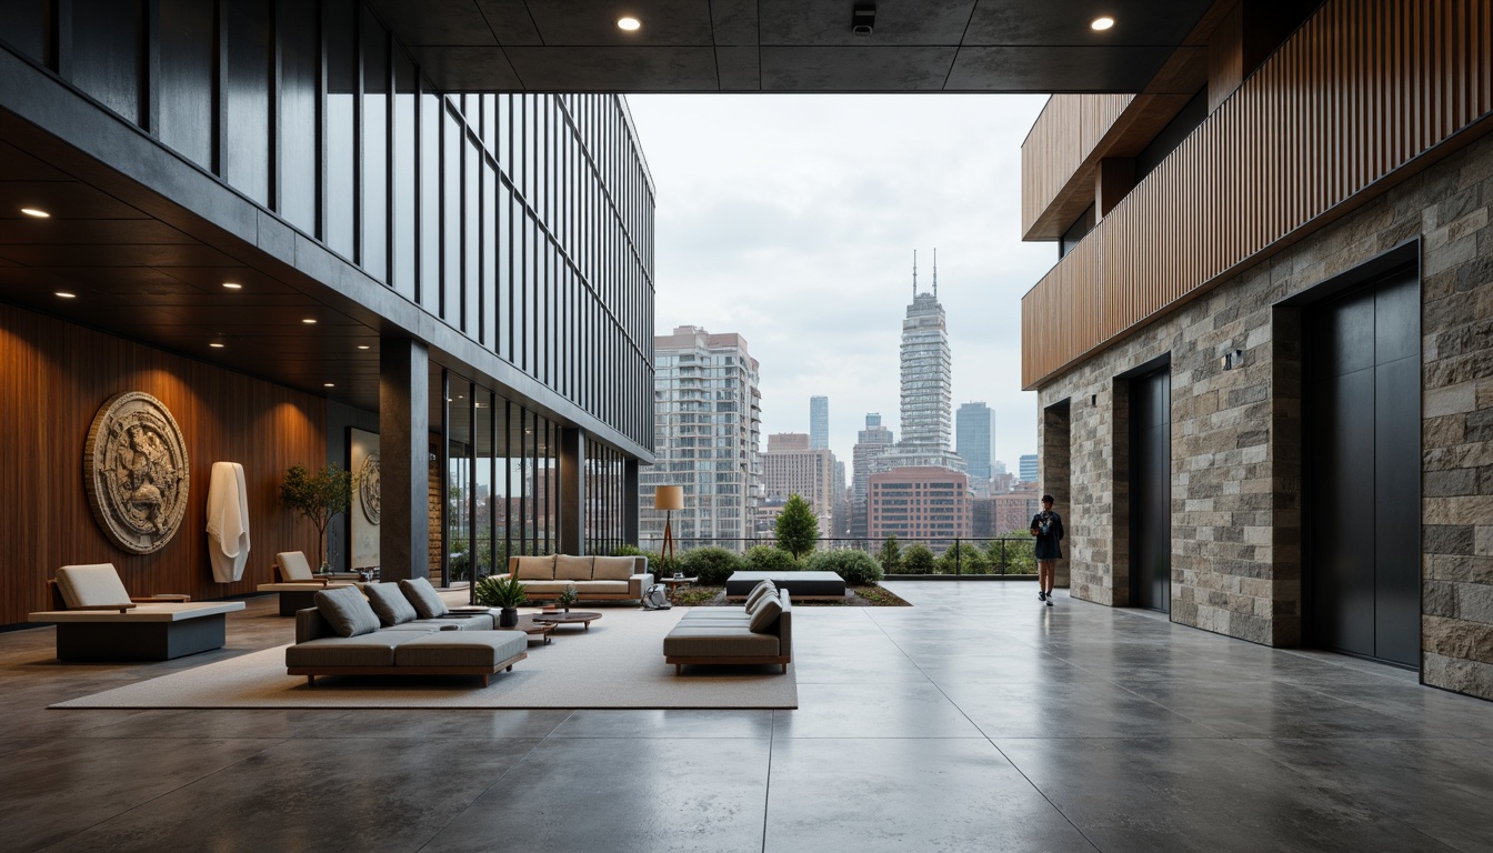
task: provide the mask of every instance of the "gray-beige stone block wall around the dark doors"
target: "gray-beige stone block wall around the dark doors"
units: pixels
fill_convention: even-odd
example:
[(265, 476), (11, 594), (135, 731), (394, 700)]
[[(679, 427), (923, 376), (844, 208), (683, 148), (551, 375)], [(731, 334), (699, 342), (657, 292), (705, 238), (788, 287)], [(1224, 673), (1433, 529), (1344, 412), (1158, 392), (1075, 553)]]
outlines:
[[(1493, 139), (1483, 139), (1044, 385), (1039, 423), (1072, 400), (1073, 596), (1127, 601), (1115, 466), (1127, 409), (1114, 376), (1171, 354), (1172, 620), (1300, 642), (1300, 320), (1278, 303), (1420, 238), (1423, 678), (1493, 698), (1490, 203)], [(1244, 366), (1221, 370), (1232, 350)]]

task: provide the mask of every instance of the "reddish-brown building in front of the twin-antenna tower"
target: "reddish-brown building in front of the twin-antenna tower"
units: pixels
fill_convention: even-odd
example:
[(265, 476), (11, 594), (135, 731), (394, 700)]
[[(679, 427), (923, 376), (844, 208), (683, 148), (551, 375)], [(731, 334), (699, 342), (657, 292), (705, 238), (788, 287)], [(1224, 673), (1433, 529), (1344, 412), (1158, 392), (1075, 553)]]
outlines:
[(872, 474), (872, 539), (897, 536), (944, 551), (970, 533), (969, 477), (947, 468), (897, 468)]

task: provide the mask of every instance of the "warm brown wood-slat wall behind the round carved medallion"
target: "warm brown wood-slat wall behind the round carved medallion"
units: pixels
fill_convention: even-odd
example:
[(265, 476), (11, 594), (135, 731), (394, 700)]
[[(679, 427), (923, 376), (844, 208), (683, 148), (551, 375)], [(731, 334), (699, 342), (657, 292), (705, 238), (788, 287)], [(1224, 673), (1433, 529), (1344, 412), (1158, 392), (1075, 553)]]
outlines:
[[(187, 438), (191, 491), (176, 536), (154, 554), (109, 544), (84, 493), (84, 438), (116, 391), (146, 391)], [(113, 563), (133, 595), (194, 601), (254, 592), (278, 551), (317, 548), (311, 523), (279, 505), (293, 465), (327, 456), (325, 402), (0, 305), (0, 478), (19, 497), (0, 524), (0, 624), (51, 609), (46, 581), (67, 563)], [(239, 462), (249, 488), (249, 562), (243, 580), (218, 584), (208, 563), (208, 486), (213, 462)]]

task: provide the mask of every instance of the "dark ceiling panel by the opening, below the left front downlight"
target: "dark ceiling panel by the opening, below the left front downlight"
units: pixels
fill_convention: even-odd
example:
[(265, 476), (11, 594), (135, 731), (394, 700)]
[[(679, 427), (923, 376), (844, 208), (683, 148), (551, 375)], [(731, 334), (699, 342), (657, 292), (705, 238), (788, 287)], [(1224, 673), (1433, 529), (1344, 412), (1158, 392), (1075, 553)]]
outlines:
[(508, 58), (539, 91), (714, 91), (712, 48), (508, 48)]

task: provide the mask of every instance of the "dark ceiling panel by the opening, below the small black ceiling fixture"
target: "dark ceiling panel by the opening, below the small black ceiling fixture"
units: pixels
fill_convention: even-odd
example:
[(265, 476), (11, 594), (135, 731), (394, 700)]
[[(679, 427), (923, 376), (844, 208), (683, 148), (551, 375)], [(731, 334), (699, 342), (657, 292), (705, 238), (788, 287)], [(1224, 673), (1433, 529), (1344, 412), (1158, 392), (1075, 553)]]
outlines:
[(763, 48), (775, 91), (939, 91), (957, 48)]

